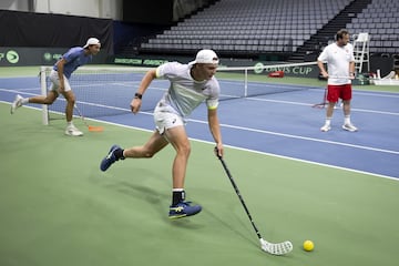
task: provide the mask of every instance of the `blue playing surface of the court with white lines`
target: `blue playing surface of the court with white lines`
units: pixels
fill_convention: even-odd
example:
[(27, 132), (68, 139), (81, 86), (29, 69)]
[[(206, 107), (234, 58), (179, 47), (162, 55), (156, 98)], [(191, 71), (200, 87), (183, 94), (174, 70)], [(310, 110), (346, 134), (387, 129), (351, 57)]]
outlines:
[[(81, 95), (78, 89), (72, 88), (76, 93), (78, 104), (95, 108), (83, 108), (85, 116), (152, 131), (154, 123), (151, 110), (168, 83), (162, 80), (154, 81), (143, 98), (142, 112), (133, 115), (130, 113), (130, 102), (139, 81), (121, 84), (102, 83), (108, 88), (102, 90), (105, 94), (94, 92)], [(219, 83), (223, 95), (243, 88), (242, 81), (219, 79)], [(117, 92), (119, 85), (124, 88), (123, 92)], [(267, 89), (278, 85), (249, 83), (248, 86)], [(324, 133), (319, 129), (324, 124), (326, 110), (313, 105), (321, 102), (325, 89), (291, 86), (293, 90), (288, 92), (265, 95), (258, 93), (255, 96), (221, 101), (218, 110), (224, 144), (380, 177), (399, 177), (398, 93), (362, 91), (361, 86), (355, 86), (351, 121), (359, 131), (347, 132), (341, 129), (344, 114), (338, 108), (334, 113), (331, 131)], [(11, 103), (17, 93), (22, 96), (40, 94), (39, 78), (0, 79), (0, 101)], [(96, 102), (99, 99), (106, 99), (108, 102)], [(58, 101), (54, 109), (57, 104), (63, 108), (64, 102)], [(98, 109), (112, 109), (117, 112), (102, 114), (96, 111)], [(94, 115), (95, 113), (98, 115)], [(40, 120), (38, 113), (38, 121)], [(204, 104), (190, 116), (187, 132), (192, 139), (213, 142)]]

